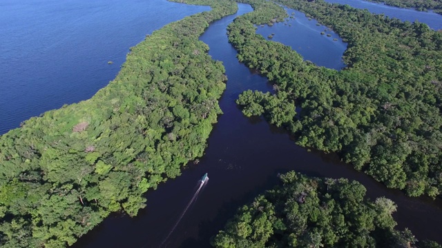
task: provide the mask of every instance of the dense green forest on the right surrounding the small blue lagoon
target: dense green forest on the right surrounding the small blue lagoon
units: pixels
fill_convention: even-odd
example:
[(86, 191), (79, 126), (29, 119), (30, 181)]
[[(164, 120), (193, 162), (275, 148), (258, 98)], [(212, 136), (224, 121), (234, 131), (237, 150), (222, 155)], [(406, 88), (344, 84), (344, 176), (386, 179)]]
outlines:
[(348, 42), (347, 68), (338, 72), (305, 62), (291, 48), (256, 34), (253, 24), (282, 14), (269, 15), (265, 1), (247, 2), (255, 11), (229, 25), (229, 41), (241, 62), (275, 84), (276, 94), (244, 92), (237, 101), (244, 114), (264, 114), (294, 134), (299, 145), (336, 152), (387, 187), (409, 196), (439, 196), (442, 33), (424, 23), (322, 0), (278, 1)]

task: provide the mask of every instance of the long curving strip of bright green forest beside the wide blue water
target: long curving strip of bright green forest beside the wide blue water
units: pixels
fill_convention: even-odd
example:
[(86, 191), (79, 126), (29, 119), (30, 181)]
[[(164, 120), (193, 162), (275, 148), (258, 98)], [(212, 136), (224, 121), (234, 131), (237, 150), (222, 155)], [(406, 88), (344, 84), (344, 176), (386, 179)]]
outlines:
[(226, 81), (198, 37), (233, 1), (166, 25), (131, 48), (92, 99), (24, 121), (0, 137), (0, 244), (65, 247), (111, 212), (135, 216), (143, 194), (202, 156)]

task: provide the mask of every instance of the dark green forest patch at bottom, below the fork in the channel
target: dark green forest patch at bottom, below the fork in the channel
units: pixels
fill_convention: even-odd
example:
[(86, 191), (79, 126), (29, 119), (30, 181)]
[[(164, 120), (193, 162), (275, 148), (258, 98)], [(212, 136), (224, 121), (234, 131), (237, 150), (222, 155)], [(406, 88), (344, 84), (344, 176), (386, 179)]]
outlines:
[(281, 185), (238, 209), (213, 247), (442, 247), (394, 229), (394, 202), (365, 199), (366, 189), (345, 178), (280, 175)]

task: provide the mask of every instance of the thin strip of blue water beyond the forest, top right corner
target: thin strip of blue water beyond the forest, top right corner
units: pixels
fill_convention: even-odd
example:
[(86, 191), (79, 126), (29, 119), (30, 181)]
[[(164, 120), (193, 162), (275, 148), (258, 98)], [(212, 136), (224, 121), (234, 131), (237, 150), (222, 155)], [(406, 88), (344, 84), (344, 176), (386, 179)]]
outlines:
[(419, 21), (427, 24), (434, 30), (442, 29), (442, 15), (434, 12), (422, 12), (414, 9), (397, 8), (387, 6), (383, 3), (372, 3), (362, 0), (325, 0), (328, 3), (348, 4), (353, 8), (367, 9), (375, 14), (385, 14), (390, 18), (397, 18), (402, 21)]

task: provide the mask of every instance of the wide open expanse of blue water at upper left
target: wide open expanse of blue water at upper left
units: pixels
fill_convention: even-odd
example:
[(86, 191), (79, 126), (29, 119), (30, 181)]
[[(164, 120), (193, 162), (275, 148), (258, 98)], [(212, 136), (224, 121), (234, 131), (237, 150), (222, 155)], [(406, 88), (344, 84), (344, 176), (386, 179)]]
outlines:
[(166, 0), (0, 1), (0, 134), (89, 99), (146, 34), (206, 10)]

